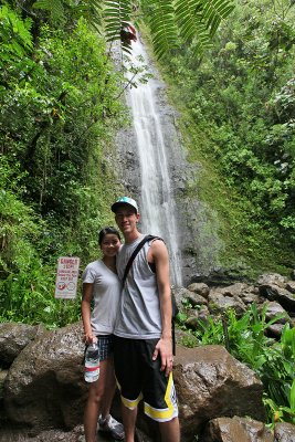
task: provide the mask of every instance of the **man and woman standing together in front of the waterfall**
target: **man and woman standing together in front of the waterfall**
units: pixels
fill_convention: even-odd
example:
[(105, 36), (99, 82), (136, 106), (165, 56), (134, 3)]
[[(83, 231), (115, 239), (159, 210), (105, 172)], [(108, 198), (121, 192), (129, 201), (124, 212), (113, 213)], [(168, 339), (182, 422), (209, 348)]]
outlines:
[[(98, 338), (101, 375), (89, 386), (84, 414), (86, 442), (96, 442), (101, 431), (123, 440), (119, 422), (109, 414), (115, 393), (115, 375), (122, 396), (125, 441), (135, 441), (137, 406), (159, 422), (162, 442), (179, 442), (178, 407), (172, 380), (172, 332), (169, 257), (165, 243), (154, 239), (135, 257), (122, 288), (126, 264), (143, 235), (137, 230), (138, 207), (128, 197), (112, 206), (116, 229), (99, 232), (103, 259), (83, 273), (82, 318), (86, 343)], [(91, 302), (94, 308), (91, 313)], [(112, 335), (114, 333), (114, 335)]]

